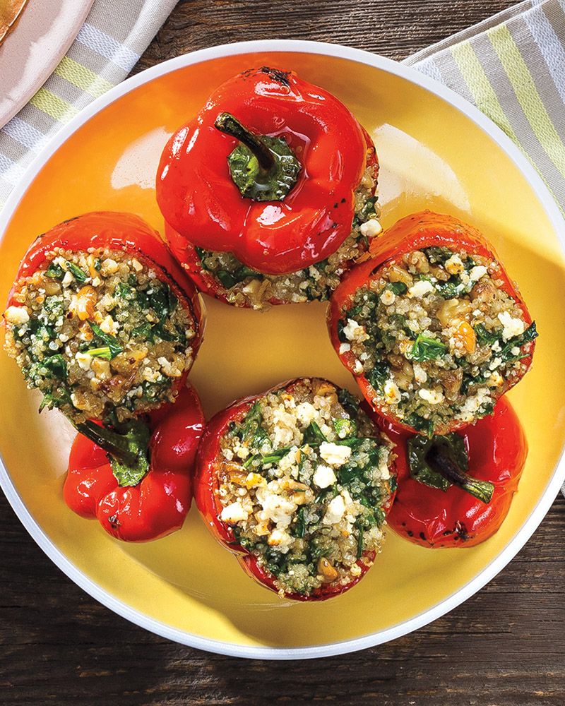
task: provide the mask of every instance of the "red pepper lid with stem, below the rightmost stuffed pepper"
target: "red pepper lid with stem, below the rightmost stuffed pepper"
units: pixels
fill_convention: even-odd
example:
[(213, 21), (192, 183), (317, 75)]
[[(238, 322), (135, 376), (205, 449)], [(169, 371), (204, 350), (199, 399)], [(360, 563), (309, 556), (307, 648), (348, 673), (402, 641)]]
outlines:
[(383, 424), (397, 454), (398, 490), (387, 523), (428, 547), (474, 546), (499, 530), (528, 455), (506, 397), (491, 417), (447, 436), (410, 436)]

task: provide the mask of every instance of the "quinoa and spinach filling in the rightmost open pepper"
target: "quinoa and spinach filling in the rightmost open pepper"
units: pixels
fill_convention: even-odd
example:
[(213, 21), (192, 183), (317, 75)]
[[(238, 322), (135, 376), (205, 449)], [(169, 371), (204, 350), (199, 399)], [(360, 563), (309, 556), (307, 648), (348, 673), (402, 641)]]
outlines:
[(386, 412), (430, 435), (492, 414), (537, 336), (504, 292), (498, 262), (429, 247), (405, 253), (360, 287), (338, 322)]

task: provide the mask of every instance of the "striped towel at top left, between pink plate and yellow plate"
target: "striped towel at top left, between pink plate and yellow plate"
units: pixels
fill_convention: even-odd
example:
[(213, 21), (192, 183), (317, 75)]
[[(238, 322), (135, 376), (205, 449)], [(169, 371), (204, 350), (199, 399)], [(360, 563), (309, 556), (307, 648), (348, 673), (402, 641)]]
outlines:
[(177, 0), (95, 0), (52, 76), (0, 131), (0, 209), (28, 164), (81, 108), (124, 80)]

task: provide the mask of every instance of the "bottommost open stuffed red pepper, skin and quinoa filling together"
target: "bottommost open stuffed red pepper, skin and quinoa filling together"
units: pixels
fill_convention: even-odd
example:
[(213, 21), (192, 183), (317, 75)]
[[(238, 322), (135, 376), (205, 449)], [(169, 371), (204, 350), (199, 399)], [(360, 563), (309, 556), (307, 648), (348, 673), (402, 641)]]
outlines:
[(366, 573), (396, 481), (391, 444), (347, 390), (299, 378), (216, 414), (195, 500), (210, 532), (280, 597), (323, 600)]

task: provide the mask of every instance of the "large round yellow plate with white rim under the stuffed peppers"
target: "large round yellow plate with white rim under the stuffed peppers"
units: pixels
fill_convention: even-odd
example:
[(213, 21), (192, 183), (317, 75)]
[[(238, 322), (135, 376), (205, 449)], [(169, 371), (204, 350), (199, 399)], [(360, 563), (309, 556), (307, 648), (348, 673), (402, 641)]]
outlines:
[[(390, 534), (347, 594), (321, 604), (282, 602), (244, 575), (191, 509), (182, 531), (122, 544), (73, 515), (61, 487), (72, 431), (57, 411), (37, 414), (16, 365), (0, 356), (1, 482), (32, 537), (74, 581), (139, 625), (206, 650), (244, 657), (320, 657), (403, 635), (453, 608), (516, 554), (565, 474), (563, 222), (521, 152), (482, 114), (403, 66), (314, 42), (248, 42), (167, 61), (95, 101), (32, 165), (1, 214), (0, 299), (37, 234), (90, 210), (129, 210), (162, 229), (153, 181), (169, 135), (222, 81), (268, 64), (335, 93), (376, 142), (383, 225), (422, 208), (479, 227), (520, 282), (540, 331), (533, 370), (511, 401), (530, 456), (510, 514), (488, 542), (429, 550)], [(207, 299), (208, 328), (191, 379), (208, 416), (234, 398), (294, 376), (355, 391), (328, 340), (326, 306), (266, 314)], [(37, 590), (41, 590), (38, 586)]]

